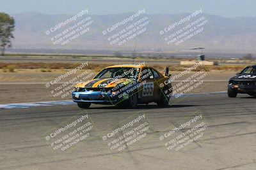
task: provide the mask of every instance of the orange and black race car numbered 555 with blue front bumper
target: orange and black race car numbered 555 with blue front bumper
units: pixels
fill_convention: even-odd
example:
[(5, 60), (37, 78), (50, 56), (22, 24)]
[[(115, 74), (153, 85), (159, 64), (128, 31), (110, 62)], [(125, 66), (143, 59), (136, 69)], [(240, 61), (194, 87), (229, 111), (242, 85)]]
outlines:
[(102, 69), (88, 82), (79, 83), (72, 92), (72, 99), (79, 108), (90, 104), (111, 104), (134, 108), (137, 104), (155, 102), (168, 106), (172, 91), (168, 67), (165, 74), (143, 64), (125, 64)]

